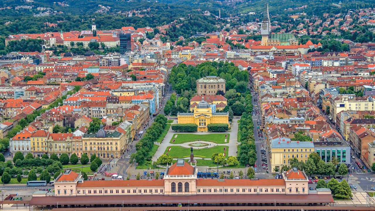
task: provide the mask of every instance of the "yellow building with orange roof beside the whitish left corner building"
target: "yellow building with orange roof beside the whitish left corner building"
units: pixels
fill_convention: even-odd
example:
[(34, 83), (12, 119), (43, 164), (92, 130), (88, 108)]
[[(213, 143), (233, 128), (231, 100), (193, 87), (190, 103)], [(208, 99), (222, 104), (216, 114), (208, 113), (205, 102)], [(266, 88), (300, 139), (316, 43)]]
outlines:
[(30, 137), (31, 142), (31, 153), (34, 157), (42, 157), (43, 154), (47, 154), (47, 140), (49, 138), (49, 132), (44, 130), (37, 130)]

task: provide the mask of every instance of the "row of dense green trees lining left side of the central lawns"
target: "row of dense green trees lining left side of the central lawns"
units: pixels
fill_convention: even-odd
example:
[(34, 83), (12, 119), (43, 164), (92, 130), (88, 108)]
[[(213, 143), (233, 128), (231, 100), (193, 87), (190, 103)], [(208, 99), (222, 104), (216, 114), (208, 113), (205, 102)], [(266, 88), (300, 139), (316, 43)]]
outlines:
[(143, 135), (143, 138), (136, 143), (136, 153), (133, 153), (130, 156), (130, 163), (135, 160), (137, 163), (142, 164), (145, 160), (151, 160), (153, 154), (150, 154), (151, 149), (154, 146), (154, 142), (162, 134), (166, 122), (168, 120), (164, 115), (157, 115), (153, 124), (147, 129), (146, 133)]

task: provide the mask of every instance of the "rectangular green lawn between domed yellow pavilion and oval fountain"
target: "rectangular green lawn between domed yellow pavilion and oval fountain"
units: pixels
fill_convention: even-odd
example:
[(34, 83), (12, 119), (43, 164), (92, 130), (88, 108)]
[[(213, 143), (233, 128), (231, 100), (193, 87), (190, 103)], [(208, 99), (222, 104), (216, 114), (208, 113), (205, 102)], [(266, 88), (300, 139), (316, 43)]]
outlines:
[[(177, 134), (177, 133), (176, 133)], [(172, 144), (180, 144), (180, 143), (186, 143), (186, 142), (194, 142), (194, 141), (203, 141), (203, 142), (213, 142), (213, 143), (229, 143), (229, 133), (212, 133), (212, 134), (177, 134), (177, 137), (175, 138), (175, 135), (173, 134), (172, 139), (169, 143)], [(228, 137), (225, 137), (227, 135)], [(173, 139), (175, 141), (173, 142)], [(225, 142), (226, 139), (226, 142)]]

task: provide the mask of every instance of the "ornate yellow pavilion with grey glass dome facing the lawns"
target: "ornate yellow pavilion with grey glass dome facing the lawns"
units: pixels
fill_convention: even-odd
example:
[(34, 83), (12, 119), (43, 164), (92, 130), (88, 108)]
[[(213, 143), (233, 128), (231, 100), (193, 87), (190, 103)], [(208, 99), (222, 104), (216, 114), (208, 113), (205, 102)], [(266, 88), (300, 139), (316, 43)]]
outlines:
[(207, 125), (213, 123), (228, 124), (229, 114), (212, 112), (212, 107), (204, 101), (199, 102), (194, 108), (194, 113), (178, 113), (178, 124), (196, 124), (198, 131), (207, 132)]

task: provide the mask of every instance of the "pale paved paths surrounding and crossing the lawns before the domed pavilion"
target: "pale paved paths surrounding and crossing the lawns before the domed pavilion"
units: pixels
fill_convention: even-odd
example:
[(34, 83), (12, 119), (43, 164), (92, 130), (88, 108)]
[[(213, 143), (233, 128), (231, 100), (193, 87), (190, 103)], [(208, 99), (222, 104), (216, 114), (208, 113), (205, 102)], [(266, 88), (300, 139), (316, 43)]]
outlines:
[[(228, 151), (228, 156), (237, 156), (237, 145), (238, 145), (238, 142), (237, 142), (237, 131), (238, 131), (238, 123), (237, 121), (239, 120), (239, 118), (236, 118), (234, 117), (233, 119), (233, 124), (232, 124), (232, 128), (231, 128), (231, 131), (230, 132), (225, 132), (225, 133), (229, 133), (229, 142), (228, 143), (225, 143), (225, 144), (217, 144), (217, 143), (213, 143), (213, 142), (201, 142), (201, 143), (208, 143), (210, 144), (211, 143), (211, 146), (208, 145), (208, 146), (204, 146), (204, 147), (194, 147), (193, 146), (193, 149), (202, 149), (202, 148), (209, 148), (209, 147), (214, 147), (216, 145), (219, 145), (219, 146), (228, 146), (229, 147), (229, 151)], [(172, 124), (175, 124), (177, 123), (177, 120), (174, 120)], [(186, 143), (181, 143), (181, 144), (172, 144), (172, 143), (169, 143), (171, 141), (171, 139), (175, 136), (175, 134), (198, 134), (198, 135), (204, 135), (204, 134), (215, 134), (215, 133), (211, 133), (211, 132), (195, 132), (195, 133), (186, 133), (186, 132), (174, 132), (172, 130), (172, 127), (169, 128), (168, 130), (168, 133), (166, 134), (164, 140), (162, 141), (162, 143), (159, 144), (159, 148), (157, 149), (154, 157), (152, 158), (153, 161), (156, 161), (157, 158), (159, 158), (161, 155), (164, 154), (165, 150), (169, 147), (169, 146), (183, 146), (183, 147), (186, 147), (186, 148), (190, 148), (189, 144), (190, 143), (199, 143), (199, 141), (194, 141), (194, 142), (186, 142)], [(222, 133), (216, 133), (216, 134), (222, 134)]]

